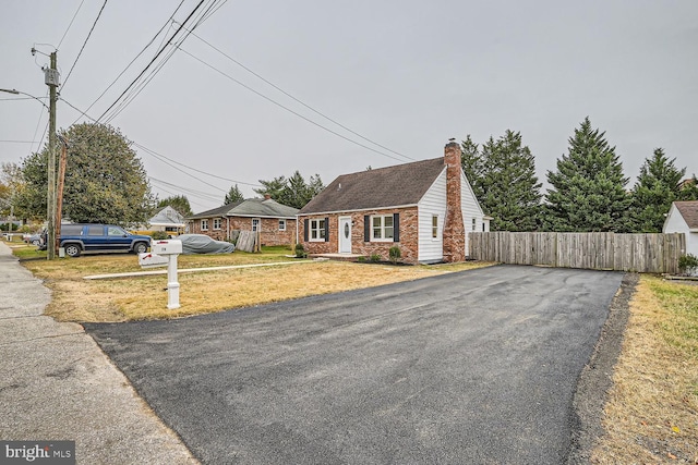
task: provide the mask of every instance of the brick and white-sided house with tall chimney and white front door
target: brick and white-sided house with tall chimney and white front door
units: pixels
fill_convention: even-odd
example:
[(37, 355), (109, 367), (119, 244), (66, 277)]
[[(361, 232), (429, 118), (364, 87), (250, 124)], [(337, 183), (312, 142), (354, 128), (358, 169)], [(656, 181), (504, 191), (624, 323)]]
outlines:
[(299, 242), (309, 254), (388, 259), (393, 246), (408, 264), (464, 261), (468, 233), (489, 231), (460, 168), (460, 146), (445, 157), (345, 174), (299, 213)]

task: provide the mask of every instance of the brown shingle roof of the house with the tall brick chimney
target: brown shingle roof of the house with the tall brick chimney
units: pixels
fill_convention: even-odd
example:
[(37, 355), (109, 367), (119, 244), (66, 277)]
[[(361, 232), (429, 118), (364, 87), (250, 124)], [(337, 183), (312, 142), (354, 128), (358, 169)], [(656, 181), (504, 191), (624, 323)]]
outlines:
[(299, 215), (416, 205), (446, 168), (444, 158), (342, 174)]

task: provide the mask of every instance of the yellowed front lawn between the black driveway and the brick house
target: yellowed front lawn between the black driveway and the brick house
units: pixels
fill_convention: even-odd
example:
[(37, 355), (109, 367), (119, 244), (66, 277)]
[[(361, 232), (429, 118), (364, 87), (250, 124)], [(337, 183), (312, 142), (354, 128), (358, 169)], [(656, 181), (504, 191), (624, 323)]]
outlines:
[(292, 261), (294, 265), (180, 273), (180, 305), (167, 309), (167, 277), (147, 276), (85, 280), (93, 274), (141, 271), (133, 254), (85, 255), (48, 261), (36, 247), (14, 248), (22, 264), (52, 291), (46, 315), (61, 321), (127, 321), (178, 318), (309, 295), (370, 287), (491, 264), (369, 266), (289, 258), (286, 247), (262, 253), (181, 255), (180, 269)]

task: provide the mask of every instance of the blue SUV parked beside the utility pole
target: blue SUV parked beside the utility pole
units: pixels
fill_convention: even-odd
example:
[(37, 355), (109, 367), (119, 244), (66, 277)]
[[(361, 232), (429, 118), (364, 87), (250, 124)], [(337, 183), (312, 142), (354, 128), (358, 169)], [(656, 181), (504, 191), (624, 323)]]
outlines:
[[(44, 232), (41, 248), (46, 248)], [(79, 257), (89, 252), (132, 252), (143, 254), (151, 246), (151, 236), (131, 234), (113, 224), (61, 224), (59, 247), (65, 255)]]

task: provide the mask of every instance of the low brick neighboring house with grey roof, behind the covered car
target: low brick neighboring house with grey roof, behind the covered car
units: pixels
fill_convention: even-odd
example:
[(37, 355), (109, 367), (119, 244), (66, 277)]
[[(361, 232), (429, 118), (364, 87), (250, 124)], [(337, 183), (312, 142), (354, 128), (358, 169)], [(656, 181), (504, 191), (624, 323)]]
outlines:
[(260, 231), (262, 245), (288, 245), (296, 241), (298, 208), (265, 198), (248, 198), (186, 218), (189, 232), (218, 241), (233, 237), (233, 231)]

